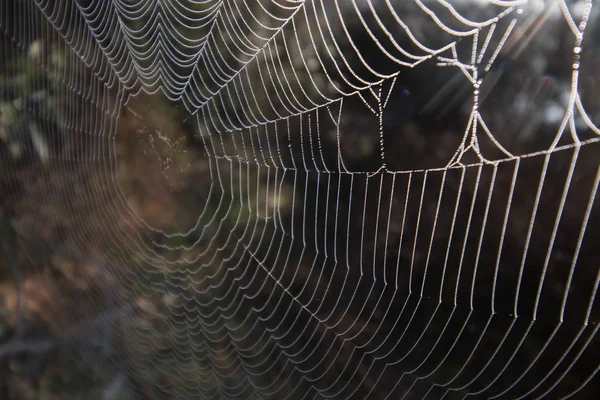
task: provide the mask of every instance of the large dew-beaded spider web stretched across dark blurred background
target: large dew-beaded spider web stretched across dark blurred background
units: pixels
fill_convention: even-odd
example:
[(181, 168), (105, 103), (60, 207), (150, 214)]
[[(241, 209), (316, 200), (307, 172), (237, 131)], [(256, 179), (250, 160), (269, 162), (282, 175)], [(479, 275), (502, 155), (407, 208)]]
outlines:
[(21, 207), (79, 221), (19, 233), (106, 274), (68, 301), (101, 345), (64, 335), (135, 396), (597, 388), (591, 0), (15, 0), (0, 25), (4, 72), (46, 75), (3, 101), (54, 82), (21, 108), (58, 172)]

